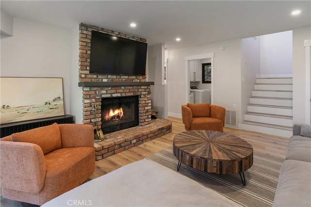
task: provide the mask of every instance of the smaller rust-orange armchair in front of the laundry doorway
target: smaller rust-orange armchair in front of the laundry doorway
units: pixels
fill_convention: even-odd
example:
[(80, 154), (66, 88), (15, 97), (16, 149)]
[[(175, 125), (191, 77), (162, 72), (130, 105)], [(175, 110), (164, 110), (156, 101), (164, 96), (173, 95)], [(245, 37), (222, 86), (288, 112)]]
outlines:
[(225, 108), (209, 103), (190, 104), (181, 106), (185, 129), (223, 131), (225, 126)]

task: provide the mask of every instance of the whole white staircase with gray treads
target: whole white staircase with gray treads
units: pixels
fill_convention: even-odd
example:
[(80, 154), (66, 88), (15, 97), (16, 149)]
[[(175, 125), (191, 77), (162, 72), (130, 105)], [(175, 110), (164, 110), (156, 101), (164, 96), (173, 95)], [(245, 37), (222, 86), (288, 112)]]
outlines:
[(241, 128), (290, 137), (292, 127), (293, 79), (257, 78)]

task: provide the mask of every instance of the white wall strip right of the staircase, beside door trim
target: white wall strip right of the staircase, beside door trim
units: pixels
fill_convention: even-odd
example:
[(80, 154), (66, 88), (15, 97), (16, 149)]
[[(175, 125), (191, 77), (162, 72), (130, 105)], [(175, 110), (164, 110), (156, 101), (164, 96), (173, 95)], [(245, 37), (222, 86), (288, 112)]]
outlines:
[(304, 40), (310, 39), (311, 27), (293, 30), (293, 122), (305, 123), (305, 48)]

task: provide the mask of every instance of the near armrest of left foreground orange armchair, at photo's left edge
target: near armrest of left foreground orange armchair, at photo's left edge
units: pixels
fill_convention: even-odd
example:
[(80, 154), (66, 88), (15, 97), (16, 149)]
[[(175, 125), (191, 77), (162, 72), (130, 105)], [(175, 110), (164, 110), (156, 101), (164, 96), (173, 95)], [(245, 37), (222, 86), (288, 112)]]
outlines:
[(39, 145), (1, 141), (0, 150), (2, 188), (30, 193), (43, 189), (46, 164)]

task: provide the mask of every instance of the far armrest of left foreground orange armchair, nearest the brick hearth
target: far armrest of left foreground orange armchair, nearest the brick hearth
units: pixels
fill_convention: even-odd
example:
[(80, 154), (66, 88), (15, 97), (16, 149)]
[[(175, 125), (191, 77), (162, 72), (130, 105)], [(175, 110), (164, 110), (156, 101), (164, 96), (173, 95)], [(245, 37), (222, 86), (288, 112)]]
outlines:
[(93, 126), (86, 124), (59, 124), (62, 148), (94, 147)]

